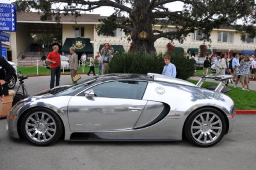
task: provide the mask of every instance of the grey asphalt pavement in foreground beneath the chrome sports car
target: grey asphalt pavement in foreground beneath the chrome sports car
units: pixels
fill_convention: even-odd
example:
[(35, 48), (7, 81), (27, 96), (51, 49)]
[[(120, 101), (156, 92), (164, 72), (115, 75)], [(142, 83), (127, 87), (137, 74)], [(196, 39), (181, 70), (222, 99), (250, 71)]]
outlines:
[(0, 119), (1, 169), (255, 169), (256, 115), (237, 115), (234, 130), (211, 148), (187, 141), (33, 146), (6, 134)]

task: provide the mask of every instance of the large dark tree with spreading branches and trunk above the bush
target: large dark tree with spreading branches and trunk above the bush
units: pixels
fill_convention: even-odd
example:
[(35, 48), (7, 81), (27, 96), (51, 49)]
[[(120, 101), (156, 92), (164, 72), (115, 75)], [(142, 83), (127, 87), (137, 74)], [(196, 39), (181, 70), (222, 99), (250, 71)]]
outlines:
[[(181, 11), (171, 12), (166, 4), (184, 3)], [(60, 13), (76, 15), (101, 6), (115, 8), (115, 13), (103, 19), (98, 34), (112, 35), (113, 30), (121, 28), (133, 42), (134, 52), (154, 52), (154, 42), (161, 37), (183, 42), (195, 30), (204, 33), (203, 39), (211, 41), (211, 31), (220, 26), (236, 28), (244, 39), (246, 32), (255, 37), (256, 10), (254, 0), (17, 0), (18, 10), (31, 8), (44, 12), (42, 20), (60, 20)], [(58, 8), (52, 8), (58, 4)], [(243, 22), (237, 25), (237, 20)], [(175, 31), (163, 32), (152, 29), (152, 24), (176, 26)]]

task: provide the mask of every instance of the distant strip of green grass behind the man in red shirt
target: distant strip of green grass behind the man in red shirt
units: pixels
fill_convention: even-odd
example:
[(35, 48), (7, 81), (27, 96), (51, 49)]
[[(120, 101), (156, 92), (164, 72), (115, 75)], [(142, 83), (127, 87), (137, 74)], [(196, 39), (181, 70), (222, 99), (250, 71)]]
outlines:
[[(88, 73), (89, 69), (90, 69), (89, 66), (84, 66), (84, 73)], [(22, 75), (36, 75), (37, 74), (36, 66), (18, 66), (17, 71), (20, 72)], [(63, 70), (61, 70), (61, 73), (63, 73)], [(70, 73), (70, 72), (65, 71), (64, 73)], [(79, 67), (78, 73), (83, 73), (82, 65)], [(95, 67), (95, 73), (99, 73), (98, 67)], [(51, 74), (50, 68), (45, 68), (45, 66), (38, 66), (38, 75), (44, 75), (44, 74)]]

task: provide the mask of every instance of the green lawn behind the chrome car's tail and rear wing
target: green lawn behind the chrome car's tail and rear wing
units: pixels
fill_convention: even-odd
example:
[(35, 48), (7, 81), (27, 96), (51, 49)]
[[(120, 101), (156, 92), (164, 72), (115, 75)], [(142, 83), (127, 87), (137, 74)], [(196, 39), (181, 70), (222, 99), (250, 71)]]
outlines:
[[(196, 84), (197, 81), (189, 80), (189, 82)], [(216, 84), (215, 82), (204, 82), (202, 87)], [(255, 110), (255, 90), (242, 91), (241, 88), (234, 88), (233, 86), (228, 86), (228, 88), (232, 90), (226, 93), (226, 95), (232, 98), (236, 105), (236, 110)]]

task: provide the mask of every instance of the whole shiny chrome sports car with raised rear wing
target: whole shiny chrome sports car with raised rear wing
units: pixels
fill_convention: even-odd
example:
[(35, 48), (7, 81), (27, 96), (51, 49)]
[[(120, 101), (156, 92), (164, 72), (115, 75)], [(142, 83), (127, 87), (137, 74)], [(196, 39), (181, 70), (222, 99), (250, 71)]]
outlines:
[[(213, 77), (223, 80), (223, 77)], [(148, 73), (111, 74), (58, 86), (13, 106), (8, 134), (45, 146), (67, 141), (177, 141), (207, 147), (234, 125), (234, 102), (221, 93)], [(225, 85), (224, 85), (225, 86)], [(222, 87), (222, 88), (221, 88)]]

